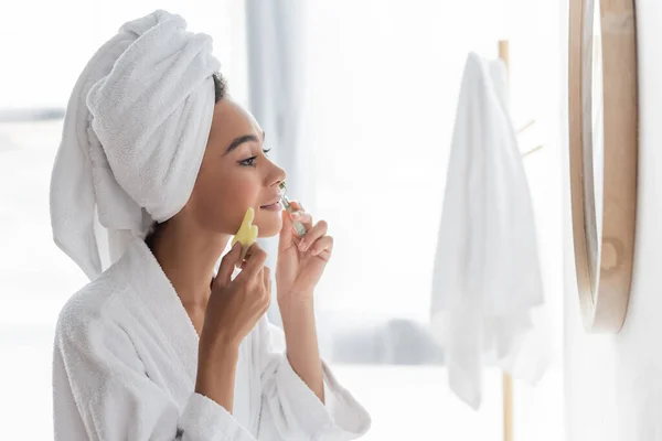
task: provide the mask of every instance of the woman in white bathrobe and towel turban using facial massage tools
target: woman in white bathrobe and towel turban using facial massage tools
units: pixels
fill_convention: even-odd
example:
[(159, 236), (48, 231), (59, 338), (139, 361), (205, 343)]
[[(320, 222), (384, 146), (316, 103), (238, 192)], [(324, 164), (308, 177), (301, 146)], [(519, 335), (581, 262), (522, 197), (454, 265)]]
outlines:
[[(154, 11), (120, 28), (72, 93), (51, 215), (56, 244), (92, 281), (57, 322), (56, 439), (349, 440), (370, 427), (319, 355), (327, 224), (279, 206), (285, 172), (211, 50), (181, 17)], [(264, 315), (259, 246), (245, 261), (235, 246), (214, 271), (248, 207), (261, 237), (279, 234), (285, 333)]]

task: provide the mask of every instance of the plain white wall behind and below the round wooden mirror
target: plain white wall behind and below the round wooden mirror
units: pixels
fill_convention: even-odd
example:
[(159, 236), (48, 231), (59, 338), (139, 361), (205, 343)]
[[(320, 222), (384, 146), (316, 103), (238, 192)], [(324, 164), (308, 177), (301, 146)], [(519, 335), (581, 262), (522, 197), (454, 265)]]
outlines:
[[(638, 1), (637, 25), (640, 88), (637, 250), (628, 318), (618, 335), (587, 335), (581, 329), (569, 230), (567, 161), (564, 170), (568, 441), (662, 440), (662, 179), (655, 178), (655, 170), (662, 170), (662, 51), (659, 49), (662, 2)], [(567, 72), (567, 64), (564, 71)]]

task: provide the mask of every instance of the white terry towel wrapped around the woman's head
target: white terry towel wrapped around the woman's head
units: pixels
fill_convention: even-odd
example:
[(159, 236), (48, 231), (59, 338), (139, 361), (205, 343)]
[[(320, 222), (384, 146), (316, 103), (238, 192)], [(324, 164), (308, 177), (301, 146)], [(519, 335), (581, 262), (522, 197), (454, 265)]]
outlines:
[(185, 205), (220, 67), (209, 35), (157, 10), (125, 23), (81, 74), (51, 178), (51, 224), (57, 246), (90, 279), (131, 236)]

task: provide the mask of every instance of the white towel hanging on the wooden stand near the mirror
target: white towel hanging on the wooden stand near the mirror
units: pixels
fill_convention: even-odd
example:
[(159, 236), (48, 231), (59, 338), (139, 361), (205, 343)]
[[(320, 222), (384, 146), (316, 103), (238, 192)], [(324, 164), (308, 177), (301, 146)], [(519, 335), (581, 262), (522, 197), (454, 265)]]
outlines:
[(544, 293), (531, 195), (506, 96), (503, 63), (469, 54), (448, 164), (430, 324), (446, 351), (450, 388), (474, 409), (485, 362), (494, 359), (535, 384), (551, 357), (532, 320)]

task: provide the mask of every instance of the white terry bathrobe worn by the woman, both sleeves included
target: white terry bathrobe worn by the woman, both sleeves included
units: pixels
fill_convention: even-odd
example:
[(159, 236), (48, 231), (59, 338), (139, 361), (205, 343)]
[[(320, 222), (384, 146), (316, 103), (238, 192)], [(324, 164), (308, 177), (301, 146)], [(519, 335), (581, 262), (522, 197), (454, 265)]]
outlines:
[(239, 347), (233, 415), (195, 394), (197, 334), (141, 239), (57, 321), (55, 439), (352, 440), (371, 424), (327, 364), (325, 405), (292, 370), (264, 316)]

